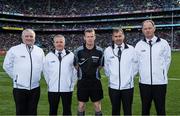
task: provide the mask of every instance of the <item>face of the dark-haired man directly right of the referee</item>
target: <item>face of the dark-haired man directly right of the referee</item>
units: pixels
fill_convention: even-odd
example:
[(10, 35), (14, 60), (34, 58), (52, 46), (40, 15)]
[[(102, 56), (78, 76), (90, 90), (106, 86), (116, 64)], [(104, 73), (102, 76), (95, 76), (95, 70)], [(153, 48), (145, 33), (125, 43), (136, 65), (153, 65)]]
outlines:
[(121, 45), (124, 42), (124, 34), (121, 31), (113, 32), (112, 39), (116, 45)]

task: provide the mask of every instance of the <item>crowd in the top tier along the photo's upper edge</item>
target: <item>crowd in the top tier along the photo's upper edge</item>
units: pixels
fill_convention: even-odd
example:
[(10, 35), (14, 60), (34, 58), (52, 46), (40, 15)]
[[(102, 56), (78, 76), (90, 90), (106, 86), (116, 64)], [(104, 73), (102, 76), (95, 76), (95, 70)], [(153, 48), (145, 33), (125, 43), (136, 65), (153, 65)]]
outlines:
[(180, 7), (179, 0), (0, 0), (0, 11), (32, 15), (87, 15)]

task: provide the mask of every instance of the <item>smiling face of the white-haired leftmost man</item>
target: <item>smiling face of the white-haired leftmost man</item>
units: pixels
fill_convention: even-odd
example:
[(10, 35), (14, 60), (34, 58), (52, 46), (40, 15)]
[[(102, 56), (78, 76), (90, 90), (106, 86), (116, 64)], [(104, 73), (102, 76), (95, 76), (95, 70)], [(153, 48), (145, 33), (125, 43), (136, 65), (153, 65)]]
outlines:
[(30, 31), (25, 31), (22, 34), (22, 40), (24, 44), (32, 46), (34, 45), (34, 42), (35, 42), (35, 34)]

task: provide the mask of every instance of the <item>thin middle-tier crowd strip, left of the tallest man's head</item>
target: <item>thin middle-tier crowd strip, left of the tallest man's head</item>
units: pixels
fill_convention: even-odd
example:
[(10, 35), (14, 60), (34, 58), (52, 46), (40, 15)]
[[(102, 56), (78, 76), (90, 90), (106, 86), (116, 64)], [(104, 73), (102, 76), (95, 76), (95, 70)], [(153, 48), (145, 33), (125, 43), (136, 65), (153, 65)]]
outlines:
[[(73, 23), (73, 24), (27, 24), (27, 23), (2, 23), (2, 27), (18, 27), (18, 28), (32, 28), (32, 29), (80, 29), (84, 30), (85, 28), (111, 28), (111, 27), (120, 27), (120, 26), (134, 26), (137, 24), (129, 22), (106, 22), (106, 23)], [(141, 23), (139, 23), (141, 25)]]

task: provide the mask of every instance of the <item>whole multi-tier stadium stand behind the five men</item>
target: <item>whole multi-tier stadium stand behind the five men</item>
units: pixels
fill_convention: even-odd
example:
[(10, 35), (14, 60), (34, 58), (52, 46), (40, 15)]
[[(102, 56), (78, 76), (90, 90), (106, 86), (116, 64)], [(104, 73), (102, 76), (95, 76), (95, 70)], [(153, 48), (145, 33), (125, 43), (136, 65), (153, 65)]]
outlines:
[[(168, 4), (167, 4), (168, 3)], [(173, 49), (180, 49), (179, 0), (0, 0), (0, 51), (21, 43), (21, 31), (36, 31), (36, 44), (47, 52), (52, 38), (61, 33), (68, 49), (83, 43), (83, 30), (95, 28), (97, 44), (111, 43), (111, 30), (121, 26), (127, 43), (135, 45), (143, 38), (141, 22), (152, 19), (157, 35), (168, 40)]]

